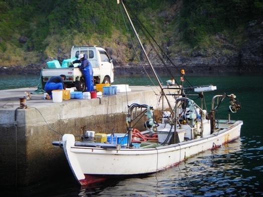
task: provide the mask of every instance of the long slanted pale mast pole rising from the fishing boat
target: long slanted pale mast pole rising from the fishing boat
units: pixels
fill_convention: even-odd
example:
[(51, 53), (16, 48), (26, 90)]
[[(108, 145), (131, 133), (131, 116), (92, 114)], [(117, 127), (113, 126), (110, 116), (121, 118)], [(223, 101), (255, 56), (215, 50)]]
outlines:
[[(149, 59), (149, 57), (148, 57), (148, 55), (147, 55), (147, 53), (146, 53), (146, 51), (145, 51), (145, 49), (144, 49), (144, 47), (143, 47), (143, 44), (141, 43), (141, 40), (140, 40), (140, 38), (139, 38), (139, 36), (138, 36), (138, 34), (137, 34), (137, 32), (136, 32), (136, 29), (135, 29), (135, 27), (134, 27), (134, 24), (133, 24), (133, 22), (131, 22), (131, 20), (130, 20), (130, 18), (129, 18), (128, 12), (127, 12), (124, 4), (123, 4), (123, 1), (120, 0), (120, 2), (121, 2), (121, 5), (122, 5), (122, 7), (123, 7), (123, 9), (124, 9), (124, 11), (125, 11), (125, 13), (126, 13), (126, 15), (127, 15), (127, 18), (128, 18), (128, 20), (129, 20), (129, 23), (130, 23), (131, 27), (132, 27), (133, 30), (134, 30), (135, 36), (136, 36), (136, 38), (137, 38), (137, 40), (138, 40), (138, 42), (139, 42), (139, 44), (140, 44), (140, 46), (141, 46), (141, 48), (142, 48), (142, 51), (143, 51), (143, 53), (145, 54), (145, 57), (146, 57), (148, 63), (150, 64), (150, 68), (151, 68), (152, 72), (154, 73), (155, 79), (156, 79), (156, 81), (158, 82), (159, 87), (161, 88), (161, 91), (162, 91), (163, 95), (165, 96), (165, 98), (166, 98), (166, 100), (167, 100), (167, 103), (168, 103), (168, 105), (169, 105), (169, 108), (170, 108), (171, 111), (172, 111), (173, 108), (172, 108), (172, 106), (170, 105), (170, 102), (169, 102), (169, 99), (168, 99), (167, 95), (164, 93), (164, 89), (163, 89), (163, 87), (162, 87), (162, 84), (161, 84), (161, 82), (160, 82), (160, 80), (159, 80), (159, 78), (158, 78), (158, 76), (157, 76), (157, 74), (156, 74), (156, 72), (155, 72), (155, 70), (154, 70), (154, 67), (153, 67), (152, 63), (150, 62), (150, 59)], [(119, 4), (119, 0), (117, 0), (117, 4)]]

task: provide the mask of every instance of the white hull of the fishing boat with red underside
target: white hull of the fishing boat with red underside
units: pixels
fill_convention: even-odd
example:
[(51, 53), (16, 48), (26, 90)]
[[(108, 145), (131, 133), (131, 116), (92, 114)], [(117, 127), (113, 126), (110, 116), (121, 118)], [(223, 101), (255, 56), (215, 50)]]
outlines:
[(110, 176), (153, 173), (218, 147), (240, 136), (242, 121), (226, 124), (224, 129), (203, 138), (155, 148), (121, 148), (75, 146), (72, 134), (63, 136), (63, 148), (69, 165), (81, 185)]

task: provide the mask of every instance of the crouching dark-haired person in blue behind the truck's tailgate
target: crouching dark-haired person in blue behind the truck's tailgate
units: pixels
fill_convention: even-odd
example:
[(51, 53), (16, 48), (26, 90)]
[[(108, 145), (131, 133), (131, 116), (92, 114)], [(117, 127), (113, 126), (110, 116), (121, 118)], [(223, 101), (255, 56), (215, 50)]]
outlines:
[(66, 79), (65, 75), (51, 77), (50, 80), (46, 83), (44, 90), (48, 95), (47, 99), (52, 99), (53, 90), (66, 90), (64, 81)]

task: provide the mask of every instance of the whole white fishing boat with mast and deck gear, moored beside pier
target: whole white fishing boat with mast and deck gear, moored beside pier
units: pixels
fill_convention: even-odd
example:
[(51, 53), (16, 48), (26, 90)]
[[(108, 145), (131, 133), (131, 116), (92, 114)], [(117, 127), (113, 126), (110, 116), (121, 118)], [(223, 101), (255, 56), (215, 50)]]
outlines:
[[(120, 139), (116, 142), (96, 142), (91, 132), (84, 133), (82, 141), (76, 141), (72, 134), (64, 134), (61, 142), (54, 141), (54, 145), (63, 147), (72, 172), (81, 185), (111, 177), (151, 174), (175, 166), (188, 157), (239, 138), (243, 124), (241, 120), (231, 120), (229, 115), (224, 120), (216, 118), (224, 99), (228, 99), (231, 113), (241, 109), (234, 94), (215, 95), (208, 112), (190, 98), (195, 96), (204, 101), (204, 92), (215, 91), (216, 86), (184, 87), (184, 70), (180, 71), (180, 83), (171, 78), (167, 84), (162, 84), (129, 18), (124, 1), (117, 3), (126, 13), (158, 82), (162, 99), (167, 100), (169, 107), (158, 122), (152, 106), (128, 105), (127, 129), (121, 136), (115, 134)], [(143, 116), (147, 119), (144, 121), (146, 129), (139, 131), (135, 126)], [(110, 137), (114, 139), (114, 133)]]

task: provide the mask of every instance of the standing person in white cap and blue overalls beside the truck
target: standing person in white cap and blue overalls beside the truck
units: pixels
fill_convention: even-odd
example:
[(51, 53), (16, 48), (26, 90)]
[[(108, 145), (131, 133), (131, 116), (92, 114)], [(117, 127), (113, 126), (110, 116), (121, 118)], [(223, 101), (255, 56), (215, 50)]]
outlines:
[(80, 66), (75, 67), (82, 70), (83, 75), (85, 76), (85, 82), (87, 86), (87, 92), (94, 91), (94, 83), (93, 83), (93, 69), (88, 61), (86, 54), (79, 54), (78, 59), (73, 61), (71, 64), (81, 63)]

